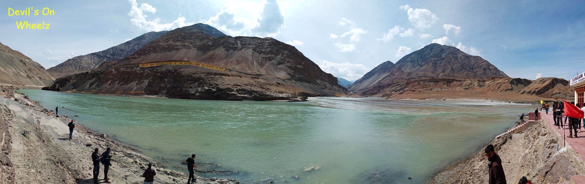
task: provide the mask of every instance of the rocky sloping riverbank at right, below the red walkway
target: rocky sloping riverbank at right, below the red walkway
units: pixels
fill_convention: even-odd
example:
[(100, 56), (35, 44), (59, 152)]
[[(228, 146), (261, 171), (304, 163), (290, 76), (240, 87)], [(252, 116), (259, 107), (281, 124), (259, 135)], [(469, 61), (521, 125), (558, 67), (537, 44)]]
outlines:
[[(546, 120), (528, 126), (525, 131), (506, 133), (489, 143), (502, 159), (508, 183), (516, 183), (522, 176), (532, 183), (569, 183), (572, 176), (585, 174), (581, 156), (569, 145), (563, 147), (562, 135)], [(429, 183), (487, 183), (487, 164), (482, 148), (472, 158), (437, 173)]]

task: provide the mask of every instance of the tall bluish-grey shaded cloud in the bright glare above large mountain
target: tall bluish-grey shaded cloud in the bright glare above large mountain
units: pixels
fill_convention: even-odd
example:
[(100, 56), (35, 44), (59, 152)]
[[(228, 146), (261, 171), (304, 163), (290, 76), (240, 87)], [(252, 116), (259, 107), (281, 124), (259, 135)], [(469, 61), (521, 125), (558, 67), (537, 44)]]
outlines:
[(277, 36), (284, 26), (284, 16), (278, 8), (276, 0), (267, 0), (258, 19), (258, 26), (252, 29), (253, 33), (267, 36)]

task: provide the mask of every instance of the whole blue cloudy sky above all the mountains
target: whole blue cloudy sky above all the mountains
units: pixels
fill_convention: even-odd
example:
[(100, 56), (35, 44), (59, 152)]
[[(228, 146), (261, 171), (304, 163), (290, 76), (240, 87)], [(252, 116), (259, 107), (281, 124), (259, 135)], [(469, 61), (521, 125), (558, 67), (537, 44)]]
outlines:
[[(143, 33), (201, 22), (230, 36), (291, 44), (350, 81), (430, 43), (479, 55), (513, 78), (570, 79), (585, 71), (584, 1), (0, 2), (0, 42), (45, 68)], [(9, 8), (28, 7), (54, 15), (9, 16)], [(44, 21), (50, 29), (17, 29), (20, 21)]]

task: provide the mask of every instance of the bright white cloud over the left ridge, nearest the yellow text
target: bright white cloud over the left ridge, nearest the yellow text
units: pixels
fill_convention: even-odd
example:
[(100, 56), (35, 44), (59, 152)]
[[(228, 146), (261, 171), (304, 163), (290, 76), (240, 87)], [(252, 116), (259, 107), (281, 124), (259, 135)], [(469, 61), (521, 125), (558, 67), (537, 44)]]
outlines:
[(132, 23), (132, 25), (135, 25), (140, 29), (149, 32), (151, 31), (160, 32), (161, 30), (171, 30), (176, 29), (178, 27), (184, 27), (194, 24), (192, 22), (185, 22), (185, 20), (187, 19), (185, 19), (185, 17), (181, 15), (178, 16), (177, 20), (174, 20), (173, 22), (170, 23), (162, 23), (159, 18), (146, 20), (147, 15), (145, 15), (144, 13), (146, 12), (154, 13), (156, 12), (156, 9), (146, 3), (140, 5), (139, 8), (136, 0), (129, 1), (130, 4), (132, 5), (132, 7), (130, 8), (130, 12), (128, 12), (128, 15), (130, 16), (130, 22)]

